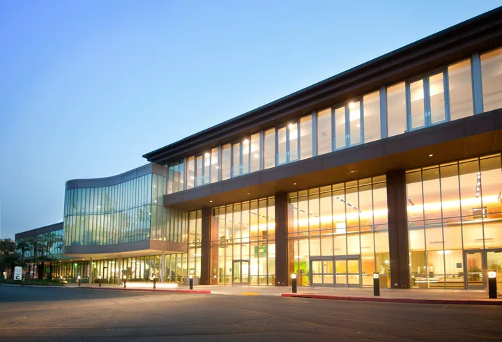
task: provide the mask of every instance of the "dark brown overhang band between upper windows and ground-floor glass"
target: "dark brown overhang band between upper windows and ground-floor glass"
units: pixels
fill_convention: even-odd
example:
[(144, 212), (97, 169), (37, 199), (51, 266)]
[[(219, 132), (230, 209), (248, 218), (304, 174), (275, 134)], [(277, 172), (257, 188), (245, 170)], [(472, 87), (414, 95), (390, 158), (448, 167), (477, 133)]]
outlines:
[[(502, 109), (164, 196), (199, 210), (502, 151)], [(432, 157), (429, 157), (432, 155)]]

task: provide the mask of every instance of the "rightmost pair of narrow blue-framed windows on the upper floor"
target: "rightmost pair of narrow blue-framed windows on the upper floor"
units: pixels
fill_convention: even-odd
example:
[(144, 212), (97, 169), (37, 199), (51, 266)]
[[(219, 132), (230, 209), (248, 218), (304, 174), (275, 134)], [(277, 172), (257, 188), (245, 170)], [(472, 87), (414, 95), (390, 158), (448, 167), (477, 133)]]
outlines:
[(406, 82), (408, 130), (443, 123), (447, 116), (445, 72)]

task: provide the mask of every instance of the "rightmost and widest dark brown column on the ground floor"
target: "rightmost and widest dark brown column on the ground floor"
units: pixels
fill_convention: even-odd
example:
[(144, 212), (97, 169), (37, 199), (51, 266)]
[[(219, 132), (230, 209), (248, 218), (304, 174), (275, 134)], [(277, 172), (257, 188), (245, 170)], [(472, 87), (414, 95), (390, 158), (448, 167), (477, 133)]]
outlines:
[(390, 287), (409, 288), (409, 248), (406, 213), (406, 173), (387, 173)]

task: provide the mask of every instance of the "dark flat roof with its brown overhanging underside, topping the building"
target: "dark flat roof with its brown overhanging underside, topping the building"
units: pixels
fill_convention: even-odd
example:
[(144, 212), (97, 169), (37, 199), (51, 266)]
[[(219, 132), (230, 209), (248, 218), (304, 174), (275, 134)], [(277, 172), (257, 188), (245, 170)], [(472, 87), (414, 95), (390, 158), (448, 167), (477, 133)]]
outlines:
[[(375, 86), (383, 86), (390, 81), (402, 81), (399, 77), (409, 77), (419, 69), (418, 64), (413, 63), (427, 66), (434, 65), (436, 60), (451, 63), (469, 56), (462, 55), (461, 51), (472, 53), (479, 48), (494, 48), (501, 43), (501, 37), (502, 6), (153, 150), (143, 157), (157, 164), (180, 160), (192, 153), (200, 153), (222, 143), (235, 141), (250, 134), (251, 130), (256, 132), (258, 128), (267, 128), (267, 125), (273, 127), (281, 119), (284, 123), (284, 120), (309, 114), (316, 107), (329, 103), (333, 105), (336, 98), (341, 102), (356, 93), (362, 95), (362, 91), (364, 93), (377, 90)], [(411, 73), (408, 75), (406, 71)], [(340, 88), (344, 88), (344, 91)], [(330, 92), (332, 94), (328, 95)]]

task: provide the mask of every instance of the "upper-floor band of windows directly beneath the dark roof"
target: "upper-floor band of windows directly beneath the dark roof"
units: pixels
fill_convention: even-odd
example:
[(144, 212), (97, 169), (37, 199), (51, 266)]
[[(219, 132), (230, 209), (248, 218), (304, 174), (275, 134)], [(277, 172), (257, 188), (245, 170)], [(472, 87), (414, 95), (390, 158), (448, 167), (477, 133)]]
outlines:
[(167, 164), (167, 194), (473, 116), (473, 92), (502, 107), (502, 48)]

